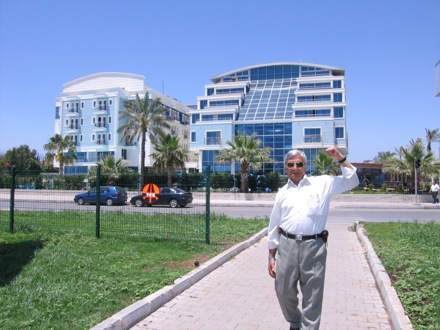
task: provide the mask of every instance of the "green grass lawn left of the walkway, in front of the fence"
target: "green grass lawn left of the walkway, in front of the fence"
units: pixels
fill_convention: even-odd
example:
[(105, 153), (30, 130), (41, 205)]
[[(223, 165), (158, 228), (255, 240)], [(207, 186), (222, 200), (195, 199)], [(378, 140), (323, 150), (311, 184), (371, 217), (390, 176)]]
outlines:
[(0, 231), (0, 329), (89, 329), (267, 224), (214, 214), (210, 245)]

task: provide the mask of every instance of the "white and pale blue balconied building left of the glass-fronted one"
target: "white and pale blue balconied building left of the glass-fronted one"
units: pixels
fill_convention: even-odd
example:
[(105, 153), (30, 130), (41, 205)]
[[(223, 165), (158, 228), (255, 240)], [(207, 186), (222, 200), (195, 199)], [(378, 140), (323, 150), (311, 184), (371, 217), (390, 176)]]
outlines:
[[(124, 100), (133, 99), (136, 93), (144, 97), (159, 97), (168, 108), (170, 133), (176, 134), (181, 144), (189, 150), (189, 107), (167, 95), (144, 85), (144, 77), (121, 72), (101, 72), (72, 80), (63, 85), (56, 99), (55, 134), (68, 135), (75, 142), (78, 159), (66, 166), (65, 173), (87, 173), (102, 157), (113, 155), (122, 158), (131, 168), (140, 164), (140, 143), (130, 145), (121, 141), (119, 112)], [(151, 141), (146, 141), (145, 166), (151, 167), (154, 152)], [(197, 159), (190, 154), (187, 168), (195, 167)]]

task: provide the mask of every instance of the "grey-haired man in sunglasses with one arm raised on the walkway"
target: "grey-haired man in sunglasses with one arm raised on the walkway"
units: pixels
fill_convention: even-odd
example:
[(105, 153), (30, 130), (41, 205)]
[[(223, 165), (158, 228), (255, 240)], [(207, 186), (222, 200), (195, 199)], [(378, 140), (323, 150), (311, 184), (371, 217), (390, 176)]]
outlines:
[[(359, 184), (356, 168), (334, 146), (326, 154), (341, 165), (341, 176), (306, 176), (307, 157), (291, 150), (284, 157), (289, 180), (275, 198), (268, 228), (269, 275), (290, 329), (319, 329), (324, 294), (331, 197)], [(302, 311), (298, 308), (298, 282)]]

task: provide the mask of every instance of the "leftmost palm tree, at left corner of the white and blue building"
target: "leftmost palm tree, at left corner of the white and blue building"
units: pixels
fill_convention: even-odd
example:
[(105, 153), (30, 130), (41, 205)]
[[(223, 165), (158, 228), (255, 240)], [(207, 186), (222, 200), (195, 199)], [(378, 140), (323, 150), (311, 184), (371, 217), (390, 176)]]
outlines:
[(46, 159), (52, 162), (54, 159), (60, 163), (60, 176), (64, 175), (64, 165), (73, 164), (77, 159), (75, 142), (66, 135), (64, 138), (60, 134), (55, 134), (44, 145), (47, 151)]

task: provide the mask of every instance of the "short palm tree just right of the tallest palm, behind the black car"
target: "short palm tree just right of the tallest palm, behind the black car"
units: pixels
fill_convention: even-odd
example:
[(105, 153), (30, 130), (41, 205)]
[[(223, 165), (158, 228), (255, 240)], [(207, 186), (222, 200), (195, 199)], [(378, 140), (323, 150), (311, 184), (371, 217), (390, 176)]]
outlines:
[(156, 170), (166, 169), (168, 174), (168, 186), (171, 186), (176, 168), (185, 168), (185, 161), (188, 159), (188, 150), (182, 148), (180, 139), (171, 134), (159, 136), (159, 141), (154, 143), (154, 149), (156, 151), (152, 154), (152, 157), (156, 161), (153, 167)]

